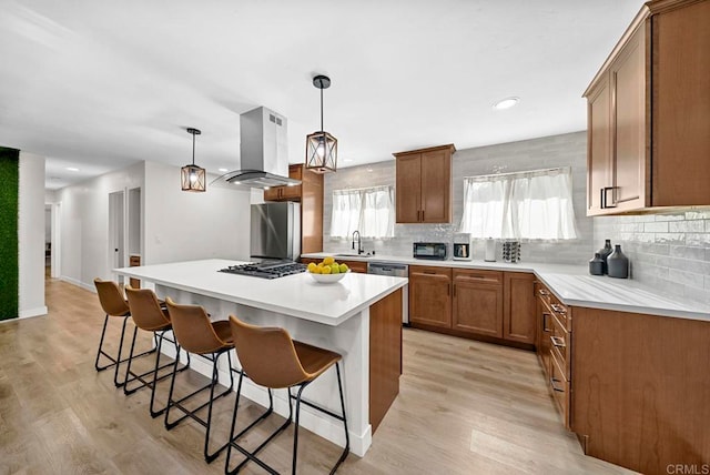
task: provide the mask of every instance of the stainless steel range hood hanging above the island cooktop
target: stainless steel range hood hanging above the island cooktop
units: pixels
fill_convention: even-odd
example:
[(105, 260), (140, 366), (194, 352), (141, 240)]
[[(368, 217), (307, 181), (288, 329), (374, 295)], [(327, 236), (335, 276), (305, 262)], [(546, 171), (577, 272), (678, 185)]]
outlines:
[(264, 107), (240, 115), (241, 170), (223, 174), (211, 184), (221, 188), (296, 185), (288, 178), (286, 118)]

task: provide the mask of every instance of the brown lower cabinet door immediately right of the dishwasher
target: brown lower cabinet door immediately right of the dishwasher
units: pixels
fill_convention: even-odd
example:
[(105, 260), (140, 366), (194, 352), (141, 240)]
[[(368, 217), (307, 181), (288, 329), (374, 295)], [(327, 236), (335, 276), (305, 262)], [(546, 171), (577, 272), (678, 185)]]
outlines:
[(452, 327), (452, 270), (409, 266), (409, 323)]

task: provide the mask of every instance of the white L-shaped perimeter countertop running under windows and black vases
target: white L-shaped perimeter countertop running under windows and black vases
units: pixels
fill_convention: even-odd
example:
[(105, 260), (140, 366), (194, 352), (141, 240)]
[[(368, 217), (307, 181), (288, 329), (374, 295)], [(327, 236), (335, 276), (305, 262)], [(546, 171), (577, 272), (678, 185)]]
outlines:
[[(710, 321), (710, 305), (684, 303), (663, 295), (662, 291), (629, 279), (590, 275), (586, 265), (545, 264), (535, 262), (428, 261), (394, 255), (338, 256), (337, 253), (303, 254), (303, 257), (337, 256), (342, 261), (396, 262), (458, 269), (486, 269), (508, 272), (532, 272), (567, 305), (650, 315)], [(342, 255), (342, 254), (341, 254)]]

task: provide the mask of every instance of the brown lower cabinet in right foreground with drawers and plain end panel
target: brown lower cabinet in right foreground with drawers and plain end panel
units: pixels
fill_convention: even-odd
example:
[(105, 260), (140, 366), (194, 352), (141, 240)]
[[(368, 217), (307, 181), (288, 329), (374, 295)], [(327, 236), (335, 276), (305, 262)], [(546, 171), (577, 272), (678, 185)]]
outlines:
[(571, 307), (540, 283), (536, 295), (540, 364), (585, 454), (645, 474), (702, 473), (710, 322)]

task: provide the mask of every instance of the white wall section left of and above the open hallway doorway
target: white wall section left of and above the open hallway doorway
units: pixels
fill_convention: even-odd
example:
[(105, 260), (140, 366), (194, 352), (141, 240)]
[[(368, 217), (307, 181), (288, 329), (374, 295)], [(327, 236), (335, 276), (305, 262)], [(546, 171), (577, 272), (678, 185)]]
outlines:
[(136, 163), (58, 190), (61, 279), (94, 290), (94, 277), (113, 279), (109, 253), (109, 194), (143, 188), (144, 164)]

